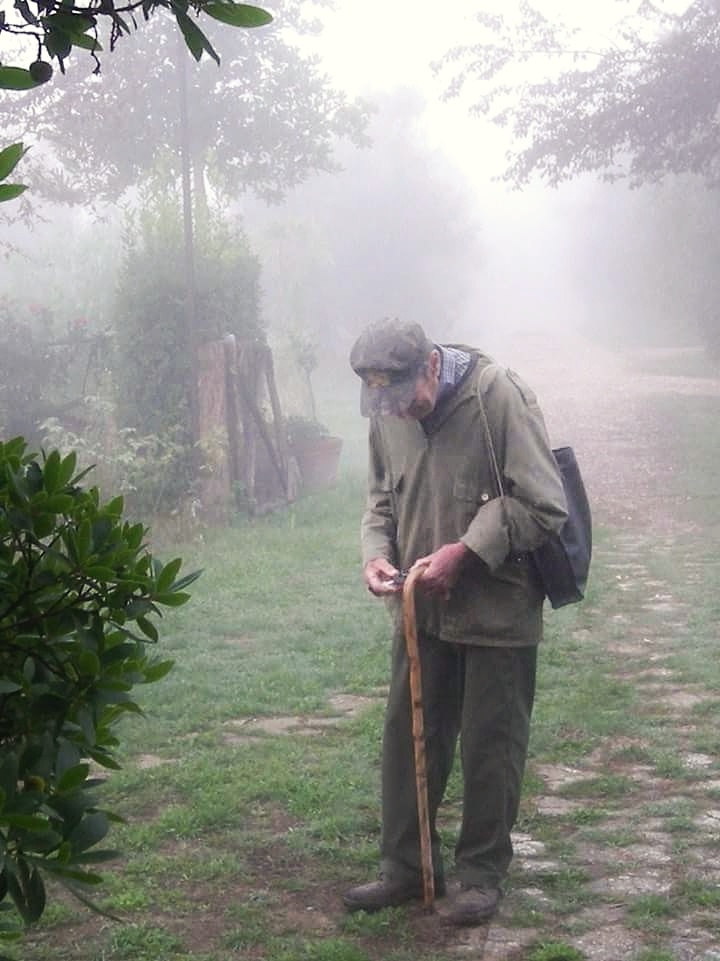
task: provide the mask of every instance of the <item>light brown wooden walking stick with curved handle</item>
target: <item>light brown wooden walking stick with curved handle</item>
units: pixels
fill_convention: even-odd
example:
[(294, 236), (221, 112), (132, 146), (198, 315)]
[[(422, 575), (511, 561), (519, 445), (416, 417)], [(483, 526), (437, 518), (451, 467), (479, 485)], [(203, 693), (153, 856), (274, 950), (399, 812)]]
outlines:
[(417, 643), (415, 619), (415, 582), (427, 565), (413, 567), (403, 585), (403, 628), (410, 665), (410, 700), (412, 702), (412, 731), (415, 748), (415, 789), (417, 791), (418, 826), (420, 828), (420, 859), (422, 862), (423, 904), (432, 911), (435, 901), (435, 876), (430, 841), (430, 812), (427, 796), (427, 766), (425, 762), (425, 721), (422, 703), (422, 674)]

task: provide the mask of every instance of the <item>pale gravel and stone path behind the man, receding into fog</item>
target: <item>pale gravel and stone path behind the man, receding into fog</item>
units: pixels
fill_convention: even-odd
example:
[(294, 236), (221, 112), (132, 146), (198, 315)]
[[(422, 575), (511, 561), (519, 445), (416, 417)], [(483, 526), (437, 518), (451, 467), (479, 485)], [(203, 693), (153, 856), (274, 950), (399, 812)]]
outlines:
[[(575, 448), (594, 517), (611, 532), (610, 542), (603, 544), (597, 556), (617, 571), (617, 604), (590, 611), (591, 625), (595, 617), (614, 621), (617, 641), (609, 650), (618, 679), (633, 682), (639, 692), (638, 711), (648, 716), (658, 712), (662, 723), (672, 729), (685, 770), (699, 775), (697, 780), (663, 777), (651, 765), (633, 760), (632, 750), (623, 765), (617, 761), (622, 745), (610, 741), (577, 768), (547, 765), (537, 772), (547, 792), (538, 810), (550, 816), (567, 816), (580, 806), (581, 802), (558, 793), (573, 780), (600, 777), (612, 770), (633, 785), (633, 810), (624, 812), (616, 827), (627, 819), (637, 842), (618, 848), (590, 842), (577, 846), (573, 862), (579, 859), (591, 877), (590, 890), (598, 897), (578, 912), (578, 935), (563, 940), (570, 940), (588, 961), (644, 957), (720, 961), (718, 928), (711, 930), (708, 912), (701, 906), (694, 905), (682, 918), (667, 922), (658, 954), (644, 954), (648, 939), (629, 923), (627, 913), (627, 905), (639, 896), (662, 898), (677, 892), (680, 884), (720, 885), (718, 759), (693, 749), (690, 713), (705, 701), (717, 703), (717, 694), (702, 685), (683, 683), (668, 666), (678, 646), (691, 640), (682, 585), (702, 573), (693, 542), (703, 532), (683, 516), (681, 502), (688, 495), (678, 489), (675, 479), (679, 453), (657, 401), (659, 394), (692, 394), (720, 402), (720, 380), (643, 373), (653, 369), (648, 360), (663, 360), (662, 352), (652, 358), (636, 354), (622, 359), (581, 340), (558, 342), (548, 358), (546, 342), (525, 338), (509, 344), (507, 356), (498, 359), (517, 369), (535, 389), (553, 446)], [(715, 506), (720, 511), (720, 500)], [(713, 529), (712, 524), (709, 527)], [(655, 573), (649, 570), (648, 559), (656, 562), (664, 554), (675, 564), (672, 581), (657, 574), (657, 563)], [(662, 804), (669, 806), (668, 811), (686, 812), (696, 828), (688, 835), (682, 865), (673, 855), (672, 819), (634, 816), (653, 805), (660, 812)], [(516, 842), (516, 866), (523, 877), (558, 868), (548, 862), (543, 845), (532, 837), (518, 835)], [(531, 897), (532, 887), (525, 893)], [(713, 910), (717, 912), (717, 904)], [(478, 961), (525, 959), (528, 945), (537, 941), (540, 932), (504, 924), (504, 914), (505, 908), (497, 923), (463, 935), (455, 949), (457, 956)]]

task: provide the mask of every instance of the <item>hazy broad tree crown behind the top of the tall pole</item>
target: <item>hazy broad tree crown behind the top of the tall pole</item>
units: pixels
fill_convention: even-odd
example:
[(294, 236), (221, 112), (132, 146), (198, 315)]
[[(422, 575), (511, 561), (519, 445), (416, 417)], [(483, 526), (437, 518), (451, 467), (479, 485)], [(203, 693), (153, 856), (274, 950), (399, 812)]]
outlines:
[(307, 20), (310, 6), (283, 0), (277, 25), (284, 29), (244, 34), (241, 44), (209, 29), (220, 69), (205, 60), (185, 71), (168, 18), (157, 17), (118, 46), (101, 77), (74, 72), (30, 91), (14, 130), (18, 139), (32, 131), (51, 145), (69, 171), (62, 192), (82, 203), (89, 196), (116, 200), (160, 155), (174, 159), (171, 172), (180, 176), (183, 149), (196, 201), (207, 175), (232, 194), (253, 190), (276, 199), (310, 172), (334, 169), (337, 138), (364, 142), (364, 105), (334, 90), (317, 58), (289, 39), (317, 29)]

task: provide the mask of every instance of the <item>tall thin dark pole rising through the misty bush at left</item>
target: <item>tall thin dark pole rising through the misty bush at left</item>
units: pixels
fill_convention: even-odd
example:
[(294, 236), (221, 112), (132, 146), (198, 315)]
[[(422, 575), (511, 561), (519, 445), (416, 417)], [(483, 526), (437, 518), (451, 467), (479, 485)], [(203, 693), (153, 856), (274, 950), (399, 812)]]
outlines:
[(197, 283), (195, 275), (195, 240), (193, 235), (192, 161), (190, 159), (190, 124), (187, 97), (187, 47), (178, 31), (178, 87), (180, 100), (180, 160), (182, 164), (183, 246), (185, 263), (185, 323), (183, 349), (187, 363), (190, 406), (190, 429), (193, 441), (199, 440), (198, 403), (198, 337)]

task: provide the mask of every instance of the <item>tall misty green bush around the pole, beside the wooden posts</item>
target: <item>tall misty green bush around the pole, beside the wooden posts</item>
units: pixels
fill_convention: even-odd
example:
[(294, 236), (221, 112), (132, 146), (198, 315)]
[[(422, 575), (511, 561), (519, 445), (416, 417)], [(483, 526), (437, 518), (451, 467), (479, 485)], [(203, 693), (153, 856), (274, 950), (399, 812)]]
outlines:
[[(239, 229), (220, 215), (198, 217), (190, 330), (180, 198), (159, 177), (143, 200), (128, 231), (115, 305), (117, 420), (121, 428), (176, 445), (161, 484), (161, 506), (172, 509), (192, 494), (199, 467), (193, 448), (197, 348), (227, 333), (264, 338), (259, 265)], [(148, 497), (159, 489), (155, 484)]]

